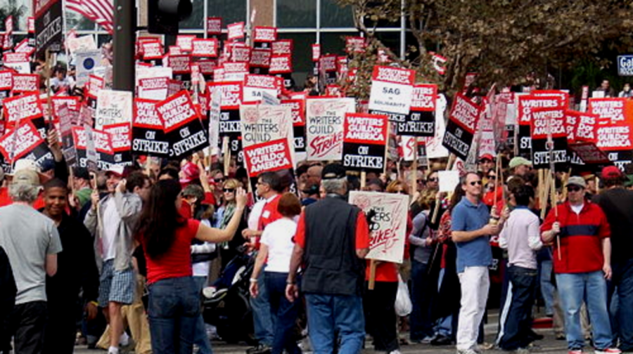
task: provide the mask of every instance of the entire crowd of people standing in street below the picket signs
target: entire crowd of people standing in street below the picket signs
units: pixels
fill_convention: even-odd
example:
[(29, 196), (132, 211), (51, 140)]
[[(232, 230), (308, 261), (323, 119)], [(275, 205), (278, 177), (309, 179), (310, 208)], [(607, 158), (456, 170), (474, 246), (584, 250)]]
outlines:
[[(523, 157), (482, 155), (442, 193), (442, 161), (390, 164), (365, 181), (340, 164), (302, 162), (250, 185), (243, 167), (225, 174), (201, 154), (91, 173), (67, 166), (54, 130), (49, 147), (46, 170), (22, 159), (2, 176), (2, 353), (72, 353), (78, 329), (110, 354), (131, 343), (136, 353), (212, 353), (201, 293), (244, 254), (254, 259), (249, 353), (359, 353), (366, 335), (386, 353), (407, 343), (532, 350), (539, 303), (569, 353), (587, 343), (633, 350), (633, 191), (615, 166), (597, 183), (557, 173), (543, 203)], [(410, 199), (405, 261), (377, 262), (375, 275), (371, 215), (347, 202), (359, 189)], [(412, 303), (404, 317), (401, 280)], [(485, 343), (497, 302), (497, 339)]]

